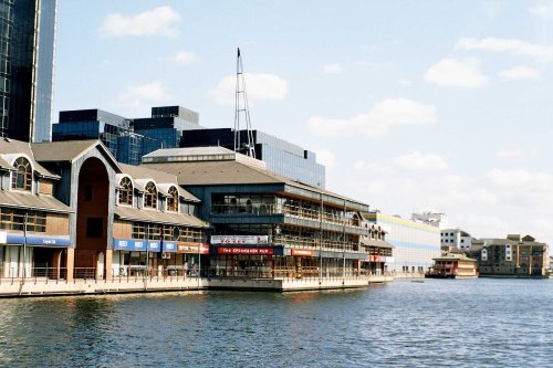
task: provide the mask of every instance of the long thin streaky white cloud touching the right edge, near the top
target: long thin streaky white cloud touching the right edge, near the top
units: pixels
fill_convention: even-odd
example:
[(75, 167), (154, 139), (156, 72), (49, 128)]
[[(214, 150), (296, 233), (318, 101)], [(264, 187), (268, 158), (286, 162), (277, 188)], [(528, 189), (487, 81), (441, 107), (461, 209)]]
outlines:
[(543, 46), (517, 39), (470, 39), (463, 38), (457, 42), (456, 50), (482, 50), (503, 52), (511, 55), (530, 56), (538, 60), (549, 61), (553, 59), (553, 48)]

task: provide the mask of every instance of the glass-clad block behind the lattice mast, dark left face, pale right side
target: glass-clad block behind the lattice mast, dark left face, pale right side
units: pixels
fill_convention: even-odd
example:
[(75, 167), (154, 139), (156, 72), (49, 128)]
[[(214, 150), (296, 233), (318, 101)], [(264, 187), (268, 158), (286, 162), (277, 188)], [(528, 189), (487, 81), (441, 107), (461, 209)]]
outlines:
[[(248, 141), (248, 130), (239, 132), (240, 141)], [(323, 188), (325, 187), (325, 167), (316, 161), (315, 153), (303, 149), (284, 139), (260, 130), (252, 130), (255, 158), (267, 165), (267, 169), (292, 180)], [(187, 132), (180, 147), (234, 148), (234, 130), (230, 128), (197, 129)], [(242, 147), (246, 153), (246, 147)]]

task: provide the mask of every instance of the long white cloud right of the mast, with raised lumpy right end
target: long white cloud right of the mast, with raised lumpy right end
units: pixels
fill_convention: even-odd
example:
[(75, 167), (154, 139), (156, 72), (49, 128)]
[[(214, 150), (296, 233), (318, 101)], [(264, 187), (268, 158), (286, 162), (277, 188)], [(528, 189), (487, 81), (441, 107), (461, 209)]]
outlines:
[(377, 137), (386, 134), (394, 125), (424, 125), (438, 120), (436, 107), (407, 98), (387, 98), (373, 105), (368, 114), (349, 119), (312, 117), (307, 127), (323, 136), (363, 134)]

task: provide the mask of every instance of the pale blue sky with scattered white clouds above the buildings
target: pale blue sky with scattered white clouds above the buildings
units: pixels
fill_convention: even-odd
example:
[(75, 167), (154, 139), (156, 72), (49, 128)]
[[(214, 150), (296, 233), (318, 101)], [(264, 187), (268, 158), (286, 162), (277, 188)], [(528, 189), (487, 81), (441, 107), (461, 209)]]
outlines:
[(152, 106), (315, 151), (326, 189), (553, 244), (553, 1), (59, 0), (54, 122)]

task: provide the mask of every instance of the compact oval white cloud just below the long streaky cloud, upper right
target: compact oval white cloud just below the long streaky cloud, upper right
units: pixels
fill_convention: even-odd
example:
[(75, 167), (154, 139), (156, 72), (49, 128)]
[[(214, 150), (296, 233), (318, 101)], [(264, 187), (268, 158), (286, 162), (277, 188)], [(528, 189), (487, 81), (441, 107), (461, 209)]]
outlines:
[(488, 77), (480, 72), (480, 62), (477, 59), (442, 59), (430, 66), (425, 80), (441, 86), (450, 87), (483, 87)]

